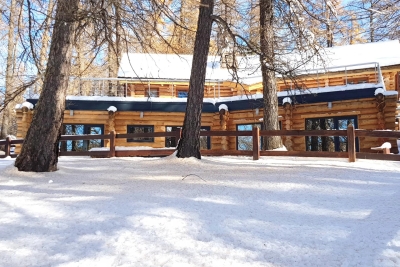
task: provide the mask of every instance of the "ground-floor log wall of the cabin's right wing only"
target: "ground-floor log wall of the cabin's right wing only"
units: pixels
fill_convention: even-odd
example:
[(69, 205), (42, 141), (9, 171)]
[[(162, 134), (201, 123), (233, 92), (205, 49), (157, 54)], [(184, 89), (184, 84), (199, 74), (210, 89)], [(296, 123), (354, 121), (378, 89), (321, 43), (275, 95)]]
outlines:
[[(395, 113), (397, 107), (396, 96), (385, 97), (385, 108), (384, 108), (384, 128), (394, 130), (395, 129)], [(377, 100), (375, 97), (368, 99), (359, 100), (346, 100), (332, 102), (332, 108), (328, 108), (328, 103), (317, 103), (317, 104), (306, 104), (293, 106), (291, 109), (291, 129), (292, 130), (305, 130), (305, 120), (308, 118), (323, 118), (323, 117), (344, 117), (344, 116), (356, 116), (358, 119), (358, 128), (365, 130), (378, 130), (379, 110), (377, 108)], [(214, 124), (216, 125), (216, 116), (214, 116)], [(238, 124), (251, 124), (251, 123), (262, 123), (260, 118), (263, 116), (263, 110), (259, 110), (259, 114), (256, 115), (255, 110), (244, 110), (244, 111), (232, 111), (230, 112), (230, 119), (228, 122), (227, 129), (231, 131), (236, 130)], [(285, 128), (287, 122), (285, 118), (285, 110), (283, 107), (279, 107), (279, 116), (282, 122), (282, 128)], [(214, 137), (216, 142), (215, 149), (218, 147), (218, 139), (220, 137)], [(229, 149), (236, 149), (236, 137), (229, 137)], [(283, 140), (285, 143), (286, 139)], [(371, 152), (371, 147), (382, 145), (384, 142), (390, 142), (392, 147), (397, 147), (396, 140), (386, 139), (381, 140), (374, 137), (361, 137), (359, 139), (360, 151)], [(304, 137), (292, 137), (290, 139), (292, 150), (294, 151), (305, 151), (305, 138)]]

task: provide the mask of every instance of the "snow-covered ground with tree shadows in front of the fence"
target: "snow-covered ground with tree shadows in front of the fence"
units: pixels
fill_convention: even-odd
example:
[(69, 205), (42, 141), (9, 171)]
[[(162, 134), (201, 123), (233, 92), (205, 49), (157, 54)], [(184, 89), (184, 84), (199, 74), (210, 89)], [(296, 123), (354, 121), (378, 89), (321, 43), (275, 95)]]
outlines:
[(0, 159), (0, 266), (400, 266), (400, 162)]

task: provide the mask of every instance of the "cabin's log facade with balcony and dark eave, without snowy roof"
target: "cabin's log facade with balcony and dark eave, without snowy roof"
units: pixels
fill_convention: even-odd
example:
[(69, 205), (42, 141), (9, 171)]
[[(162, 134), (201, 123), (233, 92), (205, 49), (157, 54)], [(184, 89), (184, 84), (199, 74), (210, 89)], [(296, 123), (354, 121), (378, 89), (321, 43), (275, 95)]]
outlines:
[[(351, 123), (358, 129), (398, 130), (400, 62), (396, 65), (377, 66), (377, 68), (369, 66), (331, 72), (314, 71), (311, 74), (296, 77), (295, 81), (278, 79), (281, 129), (317, 129), (312, 128), (317, 127), (314, 124), (323, 121), (329, 124), (328, 129), (347, 127), (347, 124)], [(109, 90), (112, 86), (107, 86), (107, 83), (115, 85), (115, 88)], [(120, 134), (138, 129), (154, 132), (173, 130), (183, 124), (188, 84), (188, 79), (121, 78), (117, 81), (106, 82), (106, 85), (103, 81), (103, 91), (106, 88), (109, 97), (93, 98), (93, 100), (90, 96), (95, 97), (98, 94), (97, 91), (91, 89), (92, 87), (81, 86), (79, 89), (74, 85), (69, 95), (80, 95), (84, 98), (67, 98), (64, 124), (73, 127), (92, 125), (101, 129), (102, 133), (115, 131)], [(82, 88), (85, 92), (82, 92)], [(205, 101), (203, 107), (202, 127), (205, 130), (225, 131), (240, 130), (241, 127), (254, 124), (260, 125), (263, 117), (262, 99), (259, 95), (261, 93), (260, 82), (238, 84), (228, 80), (207, 81), (205, 98), (208, 100)], [(283, 99), (287, 97), (292, 101), (283, 102)], [(36, 104), (37, 99), (27, 101)], [(226, 105), (228, 110), (219, 110), (218, 106), (221, 104)], [(115, 106), (117, 111), (107, 111), (109, 106)], [(16, 112), (17, 137), (23, 138), (34, 110), (24, 107), (17, 109)], [(80, 134), (85, 133), (87, 132), (80, 132)], [(334, 144), (332, 139), (331, 144), (322, 144), (322, 146), (331, 145), (332, 151), (343, 149), (340, 147), (340, 140), (334, 141)], [(239, 148), (237, 137), (212, 137), (208, 142), (208, 149), (211, 150)], [(324, 139), (283, 137), (283, 144), (290, 151), (315, 149), (313, 148), (315, 144), (312, 142), (319, 142), (321, 147)], [(336, 142), (339, 142), (339, 145)], [(370, 152), (371, 147), (379, 146), (384, 142), (390, 142), (394, 148), (393, 151), (397, 151), (395, 139), (381, 140), (367, 137), (358, 139), (357, 150)], [(109, 146), (107, 142), (101, 145)], [(164, 148), (171, 144), (167, 144), (164, 137), (155, 137), (137, 140), (119, 139), (116, 145)]]

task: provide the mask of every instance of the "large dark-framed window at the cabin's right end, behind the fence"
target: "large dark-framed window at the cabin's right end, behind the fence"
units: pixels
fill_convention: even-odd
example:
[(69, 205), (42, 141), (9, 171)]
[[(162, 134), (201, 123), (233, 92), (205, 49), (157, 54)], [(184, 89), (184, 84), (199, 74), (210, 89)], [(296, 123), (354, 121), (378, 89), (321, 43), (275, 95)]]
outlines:
[[(332, 117), (306, 119), (306, 130), (347, 130), (353, 124), (357, 128), (357, 117)], [(340, 151), (346, 152), (347, 136), (306, 136), (307, 151)], [(358, 139), (356, 139), (358, 151)]]

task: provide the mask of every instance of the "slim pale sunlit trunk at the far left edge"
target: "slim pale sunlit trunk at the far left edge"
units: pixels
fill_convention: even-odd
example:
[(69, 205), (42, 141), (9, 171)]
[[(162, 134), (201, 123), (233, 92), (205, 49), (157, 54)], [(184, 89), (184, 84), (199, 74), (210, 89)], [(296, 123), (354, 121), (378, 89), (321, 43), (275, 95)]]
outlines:
[(7, 45), (7, 65), (6, 65), (6, 94), (4, 103), (8, 103), (7, 107), (3, 111), (3, 120), (1, 124), (1, 136), (0, 139), (5, 139), (9, 135), (10, 124), (12, 121), (12, 110), (14, 105), (12, 104), (11, 98), (13, 93), (13, 83), (14, 76), (14, 66), (15, 66), (15, 40), (14, 40), (14, 30), (15, 30), (15, 18), (16, 18), (16, 0), (11, 0), (10, 3), (10, 25), (8, 28), (8, 45)]

